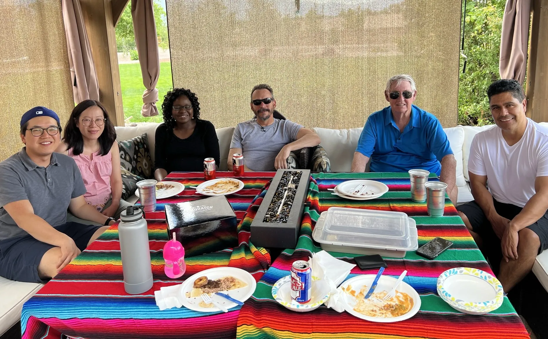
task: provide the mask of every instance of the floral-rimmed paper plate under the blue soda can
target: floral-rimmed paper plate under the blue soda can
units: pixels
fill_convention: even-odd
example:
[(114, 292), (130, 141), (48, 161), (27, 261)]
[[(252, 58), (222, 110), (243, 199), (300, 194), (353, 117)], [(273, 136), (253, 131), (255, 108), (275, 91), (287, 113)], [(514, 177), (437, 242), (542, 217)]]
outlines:
[(329, 299), (329, 285), (324, 280), (312, 281), (312, 297), (301, 304), (291, 298), (291, 275), (286, 275), (272, 286), (272, 296), (287, 309), (295, 312), (309, 312)]

